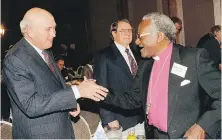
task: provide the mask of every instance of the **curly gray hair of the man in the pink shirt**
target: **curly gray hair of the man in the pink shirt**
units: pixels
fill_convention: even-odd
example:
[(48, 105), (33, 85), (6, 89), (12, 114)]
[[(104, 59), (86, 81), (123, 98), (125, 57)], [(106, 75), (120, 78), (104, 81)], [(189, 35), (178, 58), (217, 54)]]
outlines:
[(159, 32), (163, 32), (170, 41), (176, 40), (176, 27), (168, 16), (153, 12), (143, 16), (142, 20), (147, 19), (151, 20), (152, 27)]

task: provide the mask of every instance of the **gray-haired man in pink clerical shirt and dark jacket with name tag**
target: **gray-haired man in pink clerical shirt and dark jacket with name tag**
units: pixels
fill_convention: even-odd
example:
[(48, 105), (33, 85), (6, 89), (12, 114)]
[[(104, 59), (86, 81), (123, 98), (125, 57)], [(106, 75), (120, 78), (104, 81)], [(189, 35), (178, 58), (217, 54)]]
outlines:
[(168, 16), (145, 15), (137, 34), (144, 60), (132, 89), (124, 94), (110, 89), (105, 102), (125, 109), (142, 106), (147, 138), (217, 138), (221, 74), (205, 49), (173, 45), (175, 38)]

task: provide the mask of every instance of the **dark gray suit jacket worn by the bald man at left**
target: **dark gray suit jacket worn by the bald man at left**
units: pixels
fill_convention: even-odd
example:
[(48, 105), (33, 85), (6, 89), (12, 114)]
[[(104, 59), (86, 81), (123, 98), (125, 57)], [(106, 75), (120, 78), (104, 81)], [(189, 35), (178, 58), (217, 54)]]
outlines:
[(10, 96), (13, 138), (74, 138), (68, 110), (76, 99), (56, 67), (55, 74), (23, 38), (7, 54), (3, 65), (4, 82)]

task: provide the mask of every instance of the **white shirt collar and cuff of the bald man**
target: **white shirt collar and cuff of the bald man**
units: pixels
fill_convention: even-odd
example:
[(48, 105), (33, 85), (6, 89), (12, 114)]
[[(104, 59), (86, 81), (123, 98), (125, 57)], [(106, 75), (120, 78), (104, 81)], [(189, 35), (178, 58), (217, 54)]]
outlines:
[[(38, 47), (36, 47), (35, 45), (33, 45), (28, 39), (25, 38), (25, 40), (37, 51), (37, 53), (42, 57), (42, 59), (46, 62), (45, 58), (44, 58), (44, 55), (42, 54), (42, 51), (41, 49), (39, 49)], [(72, 91), (74, 92), (74, 96), (77, 99), (79, 99), (81, 97), (80, 95), (80, 92), (79, 92), (79, 89), (76, 85), (73, 85), (71, 86), (72, 88)]]

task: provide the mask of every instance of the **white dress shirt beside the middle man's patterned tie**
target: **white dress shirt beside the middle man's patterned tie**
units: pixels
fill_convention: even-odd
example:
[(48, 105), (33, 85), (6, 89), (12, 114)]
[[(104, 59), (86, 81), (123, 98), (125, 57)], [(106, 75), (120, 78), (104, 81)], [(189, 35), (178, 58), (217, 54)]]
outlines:
[[(132, 73), (131, 66), (130, 66), (130, 62), (129, 62), (129, 58), (128, 58), (128, 55), (127, 55), (127, 53), (126, 53), (126, 49), (129, 49), (129, 53), (131, 54), (131, 56), (133, 57), (133, 59), (134, 59), (135, 62), (136, 62), (136, 60), (135, 60), (135, 57), (134, 57), (134, 55), (133, 55), (130, 47), (128, 46), (128, 47), (126, 48), (126, 47), (118, 44), (117, 42), (114, 42), (114, 43), (115, 43), (116, 47), (118, 48), (118, 50), (120, 51), (120, 53), (122, 54), (123, 58), (125, 59), (128, 67), (129, 67), (129, 69), (130, 69), (130, 71), (131, 71), (131, 73)], [(137, 62), (136, 62), (136, 64), (137, 64)]]

